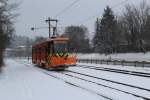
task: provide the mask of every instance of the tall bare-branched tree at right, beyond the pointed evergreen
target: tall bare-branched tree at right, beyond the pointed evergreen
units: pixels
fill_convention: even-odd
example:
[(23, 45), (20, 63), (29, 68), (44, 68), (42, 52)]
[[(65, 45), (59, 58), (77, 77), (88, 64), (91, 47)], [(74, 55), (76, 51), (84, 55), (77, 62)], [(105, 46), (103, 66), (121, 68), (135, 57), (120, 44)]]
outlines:
[[(147, 25), (150, 17), (150, 6), (145, 1), (139, 6), (127, 5), (122, 19), (122, 28), (128, 44), (131, 44), (134, 50), (145, 51), (144, 43)], [(150, 37), (149, 37), (150, 38)]]

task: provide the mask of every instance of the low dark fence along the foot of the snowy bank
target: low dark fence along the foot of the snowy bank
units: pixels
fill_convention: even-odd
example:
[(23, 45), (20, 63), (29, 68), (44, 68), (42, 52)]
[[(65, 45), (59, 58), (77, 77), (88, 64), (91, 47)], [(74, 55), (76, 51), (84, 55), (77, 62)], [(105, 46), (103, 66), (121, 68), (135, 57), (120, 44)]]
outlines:
[(146, 62), (146, 61), (77, 59), (77, 62), (79, 62), (79, 63), (90, 63), (90, 64), (107, 64), (107, 65), (122, 65), (122, 66), (135, 66), (135, 67), (150, 67), (150, 62)]

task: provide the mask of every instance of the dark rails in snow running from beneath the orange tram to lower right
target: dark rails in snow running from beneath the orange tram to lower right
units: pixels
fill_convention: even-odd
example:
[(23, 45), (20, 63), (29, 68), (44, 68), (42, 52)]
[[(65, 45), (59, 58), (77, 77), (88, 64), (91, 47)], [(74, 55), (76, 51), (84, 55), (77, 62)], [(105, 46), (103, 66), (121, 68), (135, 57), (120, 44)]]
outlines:
[[(23, 63), (24, 65), (27, 65), (27, 66), (30, 66), (31, 65), (28, 65), (28, 64), (25, 64)], [(85, 66), (84, 66), (85, 67)], [(88, 92), (91, 92), (93, 94), (96, 94), (98, 96), (101, 96), (107, 100), (113, 100), (112, 98), (108, 97), (108, 96), (105, 96), (105, 95), (102, 95), (102, 94), (99, 94), (98, 92), (95, 92), (93, 90), (89, 90), (87, 88), (84, 88), (80, 85), (77, 85), (77, 84), (74, 84), (72, 82), (69, 82), (69, 81), (66, 81), (65, 79), (63, 78), (60, 78), (60, 77), (57, 77), (55, 75), (52, 75), (49, 71), (45, 71), (45, 70), (40, 70), (42, 71), (42, 73), (44, 74), (47, 74), (53, 78), (56, 78), (60, 81), (63, 81), (65, 82), (66, 84), (69, 84), (71, 86), (74, 86), (74, 87), (78, 87), (78, 88), (81, 88), (83, 90), (86, 90)], [(71, 75), (71, 74), (68, 74), (66, 72), (69, 72), (69, 73), (74, 73), (74, 74), (78, 74), (78, 75), (82, 75), (82, 76), (87, 76), (87, 77), (91, 77), (91, 78), (94, 78), (94, 79), (99, 79), (99, 80), (103, 80), (103, 81), (107, 81), (107, 82), (111, 82), (111, 83), (115, 83), (115, 84), (119, 84), (119, 85), (123, 85), (123, 86), (128, 86), (128, 87), (131, 87), (131, 88), (136, 88), (136, 89), (140, 89), (140, 90), (143, 90), (143, 91), (147, 91), (147, 92), (150, 92), (150, 89), (146, 89), (146, 88), (142, 88), (142, 87), (138, 87), (138, 86), (133, 86), (133, 85), (129, 85), (129, 84), (125, 84), (125, 83), (121, 83), (121, 82), (117, 82), (117, 81), (113, 81), (113, 80), (108, 80), (108, 79), (104, 79), (104, 78), (99, 78), (99, 77), (95, 77), (95, 76), (91, 76), (91, 75), (88, 75), (88, 74), (83, 74), (83, 73), (79, 73), (79, 72), (75, 72), (75, 71), (70, 71), (70, 70), (65, 70), (65, 72), (58, 72), (59, 74), (63, 74), (63, 75), (66, 75), (66, 76), (69, 76), (69, 77), (72, 77), (72, 78), (76, 78), (76, 79), (80, 79), (82, 81), (86, 81), (86, 82), (89, 82), (89, 83), (92, 83), (92, 84), (96, 84), (98, 86), (103, 86), (103, 87), (106, 87), (106, 88), (109, 88), (109, 89), (113, 89), (113, 90), (116, 90), (116, 91), (119, 91), (119, 92), (123, 92), (123, 93), (126, 93), (126, 94), (129, 94), (129, 95), (133, 95), (135, 97), (139, 97), (139, 98), (142, 98), (144, 100), (150, 100), (150, 97), (145, 97), (145, 96), (142, 96), (142, 95), (139, 95), (139, 94), (135, 94), (135, 93), (131, 93), (131, 92), (127, 92), (127, 91), (124, 91), (124, 90), (121, 90), (121, 89), (118, 89), (118, 88), (115, 88), (115, 87), (111, 87), (111, 86), (108, 86), (108, 85), (104, 85), (104, 84), (101, 84), (101, 83), (97, 83), (97, 82), (94, 82), (94, 81), (91, 81), (91, 80), (88, 80), (88, 79), (84, 79), (82, 77), (78, 77), (78, 76), (75, 76), (75, 75)]]

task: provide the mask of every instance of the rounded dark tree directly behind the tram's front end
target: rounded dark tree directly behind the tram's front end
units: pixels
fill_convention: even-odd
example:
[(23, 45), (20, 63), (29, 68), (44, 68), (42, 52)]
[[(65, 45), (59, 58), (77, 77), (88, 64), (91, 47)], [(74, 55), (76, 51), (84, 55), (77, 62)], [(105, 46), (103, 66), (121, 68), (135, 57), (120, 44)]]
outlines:
[(88, 36), (88, 29), (85, 26), (68, 26), (62, 36), (69, 37), (70, 49), (75, 48), (77, 52), (90, 52), (90, 43)]

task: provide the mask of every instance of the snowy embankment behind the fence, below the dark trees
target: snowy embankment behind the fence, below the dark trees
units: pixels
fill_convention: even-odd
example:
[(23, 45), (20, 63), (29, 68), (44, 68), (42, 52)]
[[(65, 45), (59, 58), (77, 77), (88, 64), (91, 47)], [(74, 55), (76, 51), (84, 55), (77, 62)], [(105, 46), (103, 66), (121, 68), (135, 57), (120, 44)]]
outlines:
[(77, 54), (78, 59), (96, 60), (125, 60), (125, 61), (147, 61), (150, 62), (150, 52), (148, 53), (118, 53), (118, 54)]

